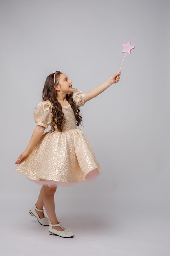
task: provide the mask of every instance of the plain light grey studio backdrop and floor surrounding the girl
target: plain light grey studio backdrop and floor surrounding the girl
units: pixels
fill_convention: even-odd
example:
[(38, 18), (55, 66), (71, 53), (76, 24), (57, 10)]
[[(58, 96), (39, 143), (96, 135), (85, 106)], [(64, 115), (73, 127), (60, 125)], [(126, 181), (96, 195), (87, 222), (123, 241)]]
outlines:
[[(170, 255), (169, 0), (0, 0), (1, 238), (3, 255)], [(60, 69), (88, 92), (81, 108), (102, 174), (58, 188), (72, 240), (48, 235), (28, 211), (40, 186), (14, 171), (29, 142), (46, 76)]]

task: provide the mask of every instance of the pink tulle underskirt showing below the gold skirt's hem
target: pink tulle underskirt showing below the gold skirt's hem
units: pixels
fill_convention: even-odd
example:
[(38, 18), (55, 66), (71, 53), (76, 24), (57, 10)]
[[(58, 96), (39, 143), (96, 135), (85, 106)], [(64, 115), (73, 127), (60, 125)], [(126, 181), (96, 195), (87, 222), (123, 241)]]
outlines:
[(99, 176), (99, 169), (94, 169), (90, 173), (88, 173), (85, 177), (84, 181), (81, 182), (75, 182), (75, 183), (70, 183), (70, 182), (59, 182), (59, 181), (53, 181), (53, 180), (31, 180), (31, 182), (35, 182), (38, 185), (45, 185), (45, 186), (73, 186), (74, 184), (80, 184), (83, 182), (92, 182)]

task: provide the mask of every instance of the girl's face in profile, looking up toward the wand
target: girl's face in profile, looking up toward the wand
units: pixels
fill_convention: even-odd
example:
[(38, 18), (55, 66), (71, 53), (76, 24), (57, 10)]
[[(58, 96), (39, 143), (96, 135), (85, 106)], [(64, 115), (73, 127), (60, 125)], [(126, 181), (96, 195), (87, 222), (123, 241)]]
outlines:
[(60, 91), (64, 94), (72, 93), (72, 81), (68, 79), (68, 76), (66, 74), (60, 74), (58, 85), (56, 85), (55, 90)]

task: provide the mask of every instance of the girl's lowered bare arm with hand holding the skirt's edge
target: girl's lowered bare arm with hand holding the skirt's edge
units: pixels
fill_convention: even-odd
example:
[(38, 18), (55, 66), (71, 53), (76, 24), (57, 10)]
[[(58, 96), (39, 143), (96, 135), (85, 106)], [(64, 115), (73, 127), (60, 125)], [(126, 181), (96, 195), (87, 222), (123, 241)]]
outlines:
[(35, 130), (33, 131), (33, 135), (29, 141), (28, 146), (26, 147), (26, 150), (18, 157), (16, 160), (15, 164), (18, 164), (23, 158), (27, 157), (33, 147), (37, 144), (39, 141), (40, 137), (43, 135), (45, 130), (45, 127), (43, 126), (36, 126)]

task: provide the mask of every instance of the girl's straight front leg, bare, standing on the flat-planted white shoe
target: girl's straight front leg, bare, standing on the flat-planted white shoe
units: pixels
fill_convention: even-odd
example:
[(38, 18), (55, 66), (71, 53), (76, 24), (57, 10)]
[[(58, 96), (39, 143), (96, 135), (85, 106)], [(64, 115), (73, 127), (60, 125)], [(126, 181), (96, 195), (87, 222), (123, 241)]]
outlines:
[[(57, 220), (57, 216), (55, 213), (55, 203), (54, 203), (54, 194), (56, 191), (57, 187), (49, 187), (49, 186), (44, 186), (44, 196), (43, 196), (43, 202), (44, 202), (44, 207), (46, 210), (46, 213), (49, 217), (49, 220), (52, 224), (58, 224), (59, 221)], [(58, 231), (64, 231), (60, 226), (53, 227), (57, 229)]]

